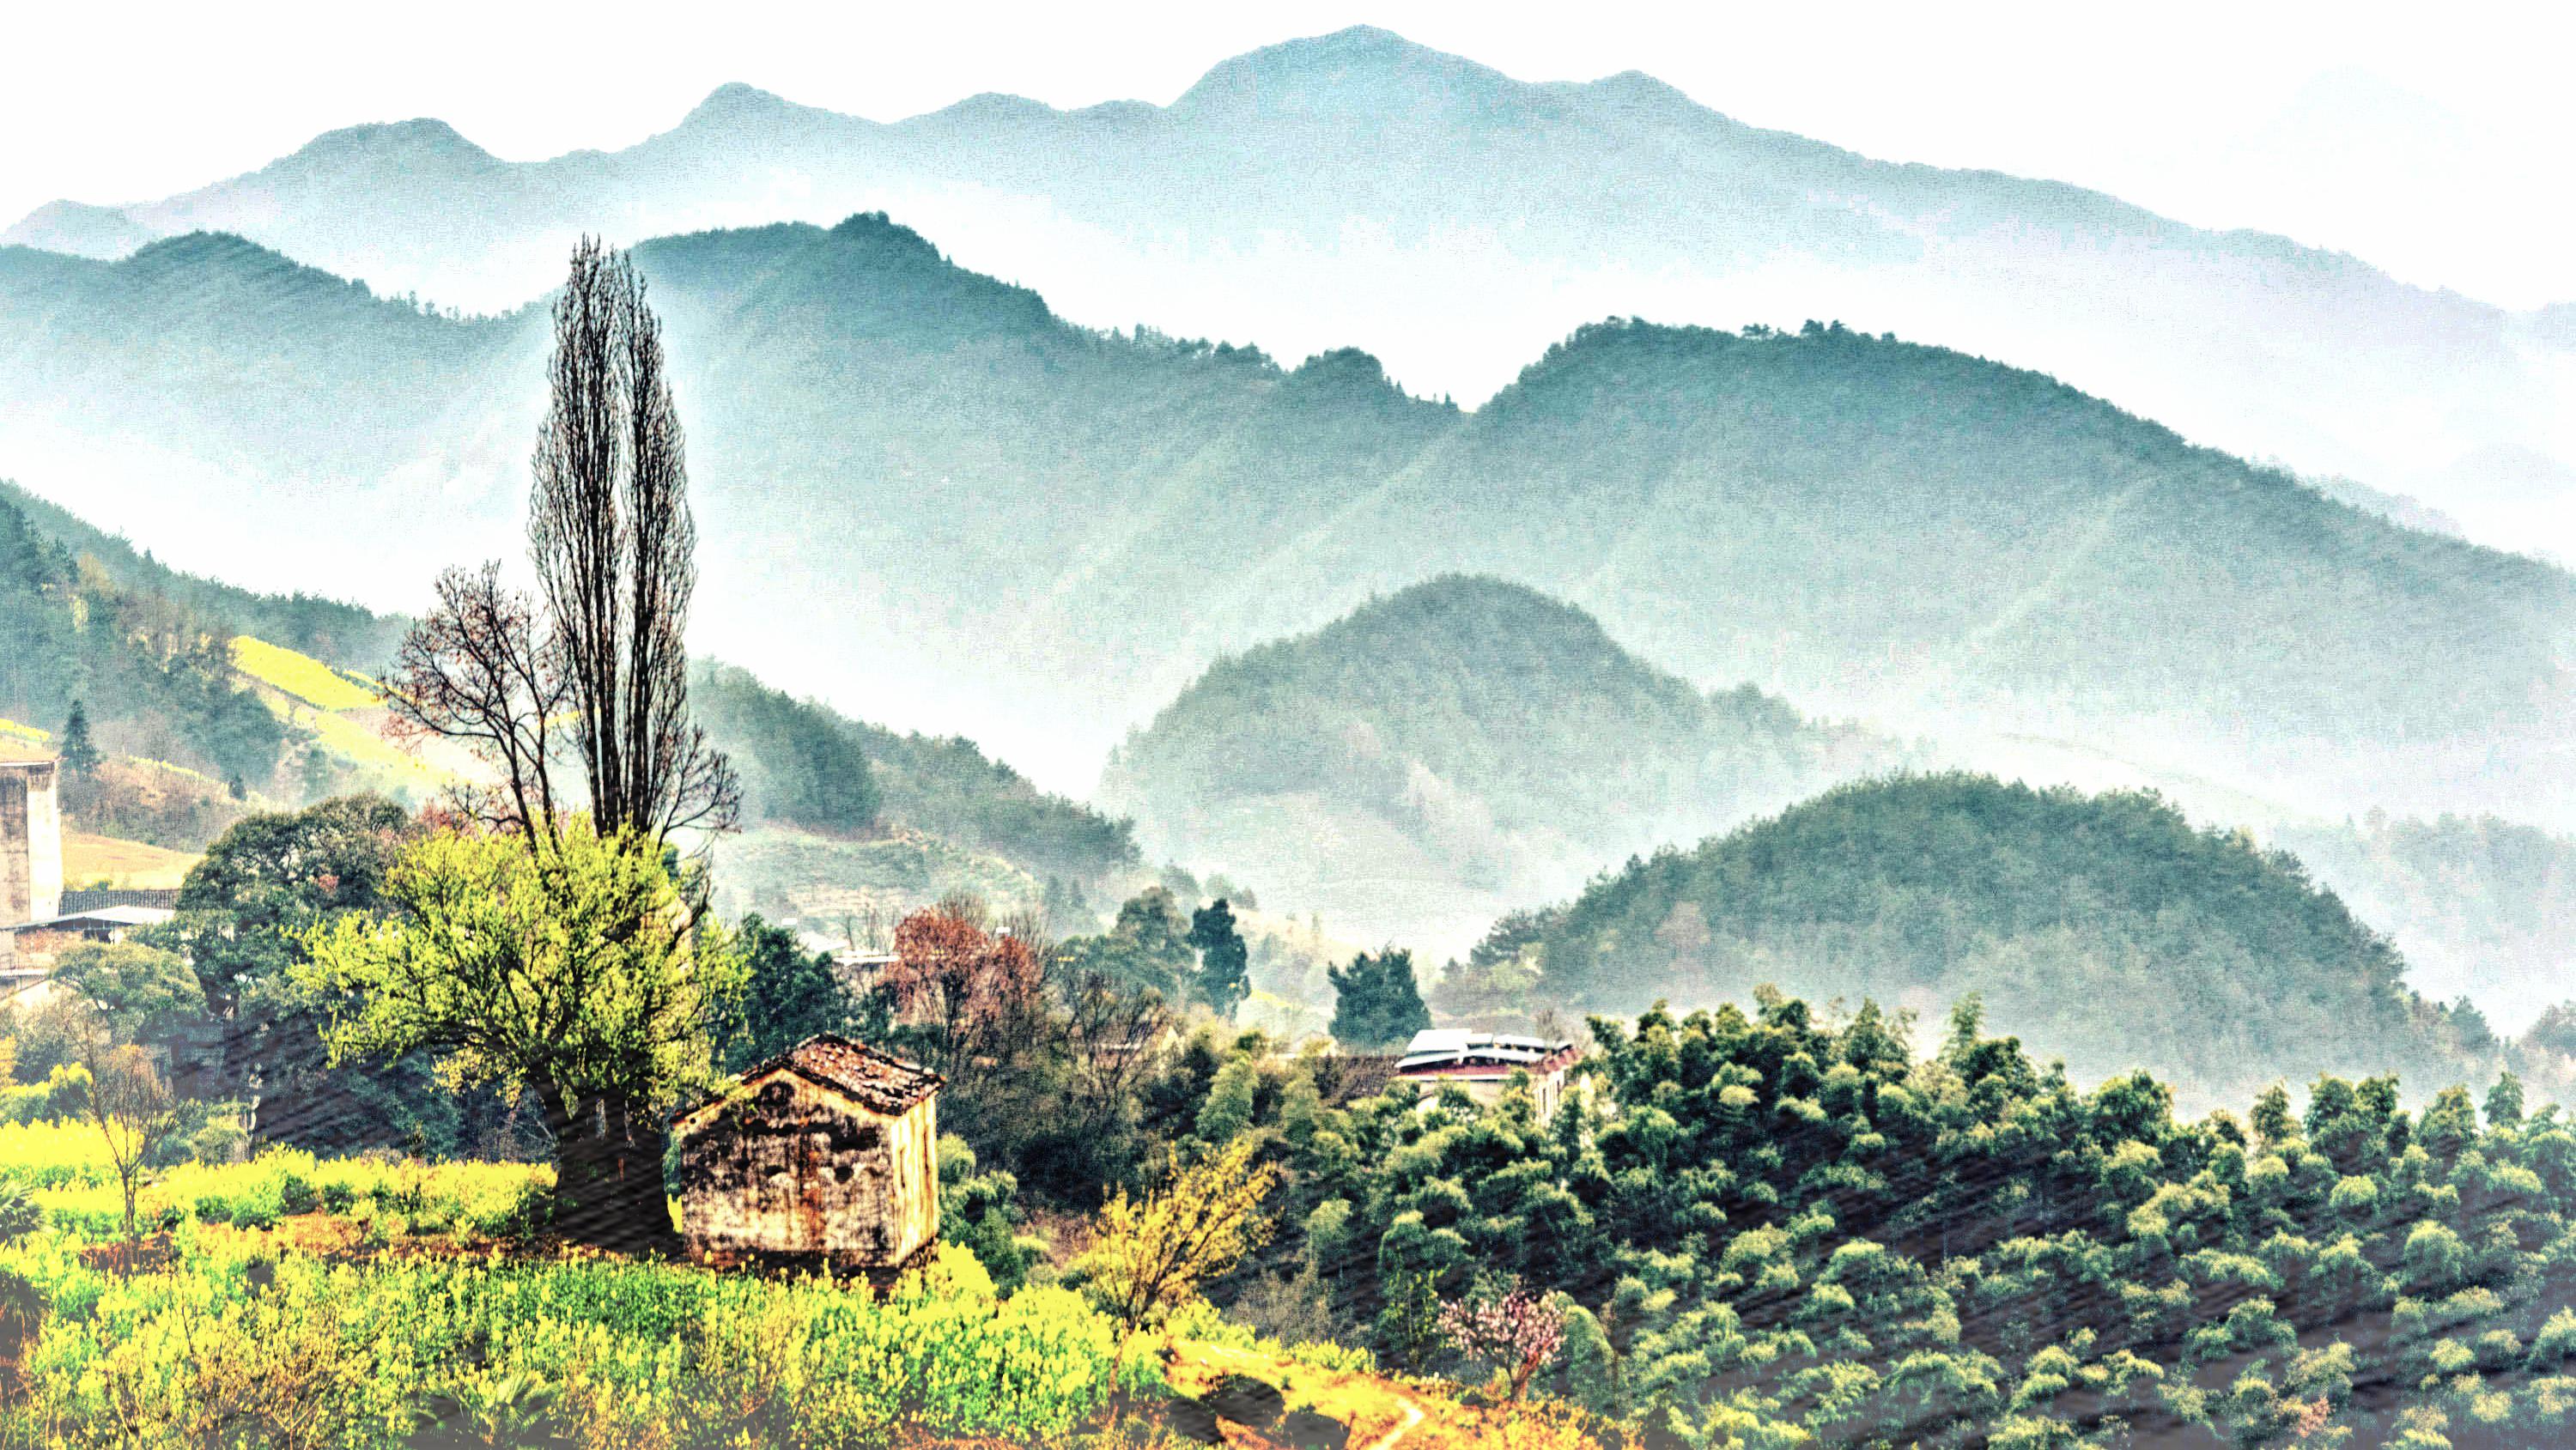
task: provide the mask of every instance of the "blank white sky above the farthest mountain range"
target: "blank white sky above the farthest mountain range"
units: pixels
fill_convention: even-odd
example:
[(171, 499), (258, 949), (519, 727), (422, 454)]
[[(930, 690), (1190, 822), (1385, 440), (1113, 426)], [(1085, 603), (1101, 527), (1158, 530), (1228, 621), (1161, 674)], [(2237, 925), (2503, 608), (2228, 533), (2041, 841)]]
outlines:
[(0, 224), (57, 196), (185, 191), (353, 121), (440, 116), (536, 160), (631, 144), (726, 80), (873, 118), (976, 90), (1164, 103), (1229, 54), (1376, 23), (1525, 80), (1646, 70), (1752, 124), (2097, 185), (2512, 306), (2576, 299), (2566, 5), (144, 0), (0, 15)]

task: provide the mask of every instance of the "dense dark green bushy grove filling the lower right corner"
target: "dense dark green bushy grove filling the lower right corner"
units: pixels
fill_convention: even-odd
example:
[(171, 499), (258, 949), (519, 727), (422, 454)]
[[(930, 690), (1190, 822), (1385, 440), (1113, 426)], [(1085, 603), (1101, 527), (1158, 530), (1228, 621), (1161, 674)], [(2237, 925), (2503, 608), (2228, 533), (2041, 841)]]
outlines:
[(1690, 1445), (2566, 1432), (2555, 1107), (2481, 1123), (2452, 1087), (2409, 1115), (2391, 1077), (2329, 1077), (2251, 1133), (2184, 1123), (2146, 1074), (2079, 1092), (1973, 1004), (1929, 1059), (1906, 1017), (1777, 994), (1592, 1030), (1600, 1110), (1396, 1089), (1288, 1154), (1285, 1210), (1332, 1223), (1327, 1290), (1378, 1306), (1381, 1357), (1406, 1362), (1425, 1280), (1517, 1275), (1582, 1308), (1540, 1388)]

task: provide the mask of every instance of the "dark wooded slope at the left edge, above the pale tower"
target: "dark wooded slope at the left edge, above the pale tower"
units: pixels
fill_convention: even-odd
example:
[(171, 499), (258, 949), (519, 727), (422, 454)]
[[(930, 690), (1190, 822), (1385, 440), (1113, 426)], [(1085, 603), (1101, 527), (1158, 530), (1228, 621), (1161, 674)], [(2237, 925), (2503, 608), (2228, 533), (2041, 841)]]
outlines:
[[(0, 716), (67, 721), (82, 706), (95, 752), (268, 780), (286, 731), (232, 683), (232, 628), (162, 595), (82, 569), (70, 549), (0, 500)], [(75, 811), (85, 796), (75, 788)]]

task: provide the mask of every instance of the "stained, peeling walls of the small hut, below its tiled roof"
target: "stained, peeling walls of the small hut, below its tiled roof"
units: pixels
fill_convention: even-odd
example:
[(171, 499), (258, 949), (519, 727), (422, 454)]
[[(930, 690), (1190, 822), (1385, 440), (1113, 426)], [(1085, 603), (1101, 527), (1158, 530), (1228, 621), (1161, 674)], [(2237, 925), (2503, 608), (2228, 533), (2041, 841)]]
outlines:
[(935, 1105), (878, 1113), (773, 1071), (680, 1123), (693, 1254), (899, 1265), (938, 1234)]

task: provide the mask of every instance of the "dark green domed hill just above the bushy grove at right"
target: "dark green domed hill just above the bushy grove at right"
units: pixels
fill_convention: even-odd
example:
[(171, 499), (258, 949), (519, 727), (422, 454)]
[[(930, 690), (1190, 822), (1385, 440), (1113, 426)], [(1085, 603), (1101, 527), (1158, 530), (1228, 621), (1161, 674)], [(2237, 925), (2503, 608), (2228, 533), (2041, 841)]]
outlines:
[(2295, 858), (2192, 829), (2154, 796), (1981, 775), (1839, 786), (1507, 919), (1538, 994), (1625, 1012), (1754, 986), (1991, 1022), (2079, 1082), (2148, 1069), (2200, 1100), (2321, 1071), (2455, 1082), (2499, 1043), (2406, 989), (2385, 937)]

